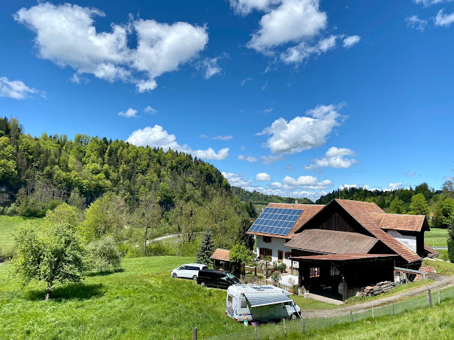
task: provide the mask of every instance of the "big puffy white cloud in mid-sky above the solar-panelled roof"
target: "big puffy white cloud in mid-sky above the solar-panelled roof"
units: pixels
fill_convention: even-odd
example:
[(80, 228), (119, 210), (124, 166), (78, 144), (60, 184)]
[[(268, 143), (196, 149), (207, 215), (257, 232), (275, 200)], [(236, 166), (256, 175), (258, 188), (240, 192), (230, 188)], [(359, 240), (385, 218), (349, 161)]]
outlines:
[(305, 117), (296, 117), (289, 122), (284, 118), (275, 120), (259, 135), (271, 135), (263, 147), (272, 153), (294, 154), (322, 146), (333, 127), (341, 124), (341, 115), (336, 111), (340, 106), (320, 105), (307, 111)]

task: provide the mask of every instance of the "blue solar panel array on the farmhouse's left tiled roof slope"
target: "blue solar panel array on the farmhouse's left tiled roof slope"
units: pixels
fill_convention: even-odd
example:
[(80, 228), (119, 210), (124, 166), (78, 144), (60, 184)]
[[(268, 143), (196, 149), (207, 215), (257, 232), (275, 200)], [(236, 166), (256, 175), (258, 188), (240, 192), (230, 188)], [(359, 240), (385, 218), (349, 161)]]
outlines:
[(289, 234), (303, 209), (265, 208), (249, 228), (249, 232), (263, 232), (285, 236)]

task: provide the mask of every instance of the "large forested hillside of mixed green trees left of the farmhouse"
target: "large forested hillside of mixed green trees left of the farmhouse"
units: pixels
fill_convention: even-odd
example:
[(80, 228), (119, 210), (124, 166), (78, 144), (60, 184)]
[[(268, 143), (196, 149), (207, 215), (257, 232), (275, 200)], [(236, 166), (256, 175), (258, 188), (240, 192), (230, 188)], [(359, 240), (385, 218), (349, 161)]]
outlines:
[(103, 233), (112, 234), (118, 225), (123, 241), (175, 233), (191, 243), (209, 228), (216, 246), (244, 237), (255, 216), (214, 166), (191, 155), (23, 130), (15, 119), (0, 119), (0, 190), (11, 195), (1, 213), (41, 217), (65, 202), (85, 226), (104, 223), (110, 229)]

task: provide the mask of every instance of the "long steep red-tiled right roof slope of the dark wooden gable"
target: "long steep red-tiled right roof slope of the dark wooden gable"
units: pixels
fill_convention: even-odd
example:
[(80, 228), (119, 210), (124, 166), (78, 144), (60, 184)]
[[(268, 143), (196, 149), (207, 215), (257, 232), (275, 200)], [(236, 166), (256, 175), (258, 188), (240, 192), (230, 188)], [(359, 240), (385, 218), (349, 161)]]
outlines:
[(362, 201), (350, 201), (348, 199), (336, 199), (345, 211), (347, 211), (360, 225), (364, 227), (377, 239), (385, 243), (386, 246), (390, 247), (394, 252), (403, 257), (408, 262), (415, 262), (421, 260), (421, 257), (408, 249), (406, 246), (401, 244), (397, 239), (394, 239), (390, 234), (383, 231), (380, 228), (375, 214), (385, 214), (375, 203), (362, 202)]

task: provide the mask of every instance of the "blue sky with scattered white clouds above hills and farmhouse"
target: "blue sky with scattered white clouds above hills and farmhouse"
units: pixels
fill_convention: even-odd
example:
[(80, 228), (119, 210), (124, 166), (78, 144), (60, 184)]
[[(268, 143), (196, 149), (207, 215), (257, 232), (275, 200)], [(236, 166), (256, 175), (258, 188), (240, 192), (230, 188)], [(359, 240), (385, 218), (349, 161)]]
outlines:
[(2, 4), (2, 116), (190, 152), (268, 194), (452, 175), (454, 1), (111, 3)]

